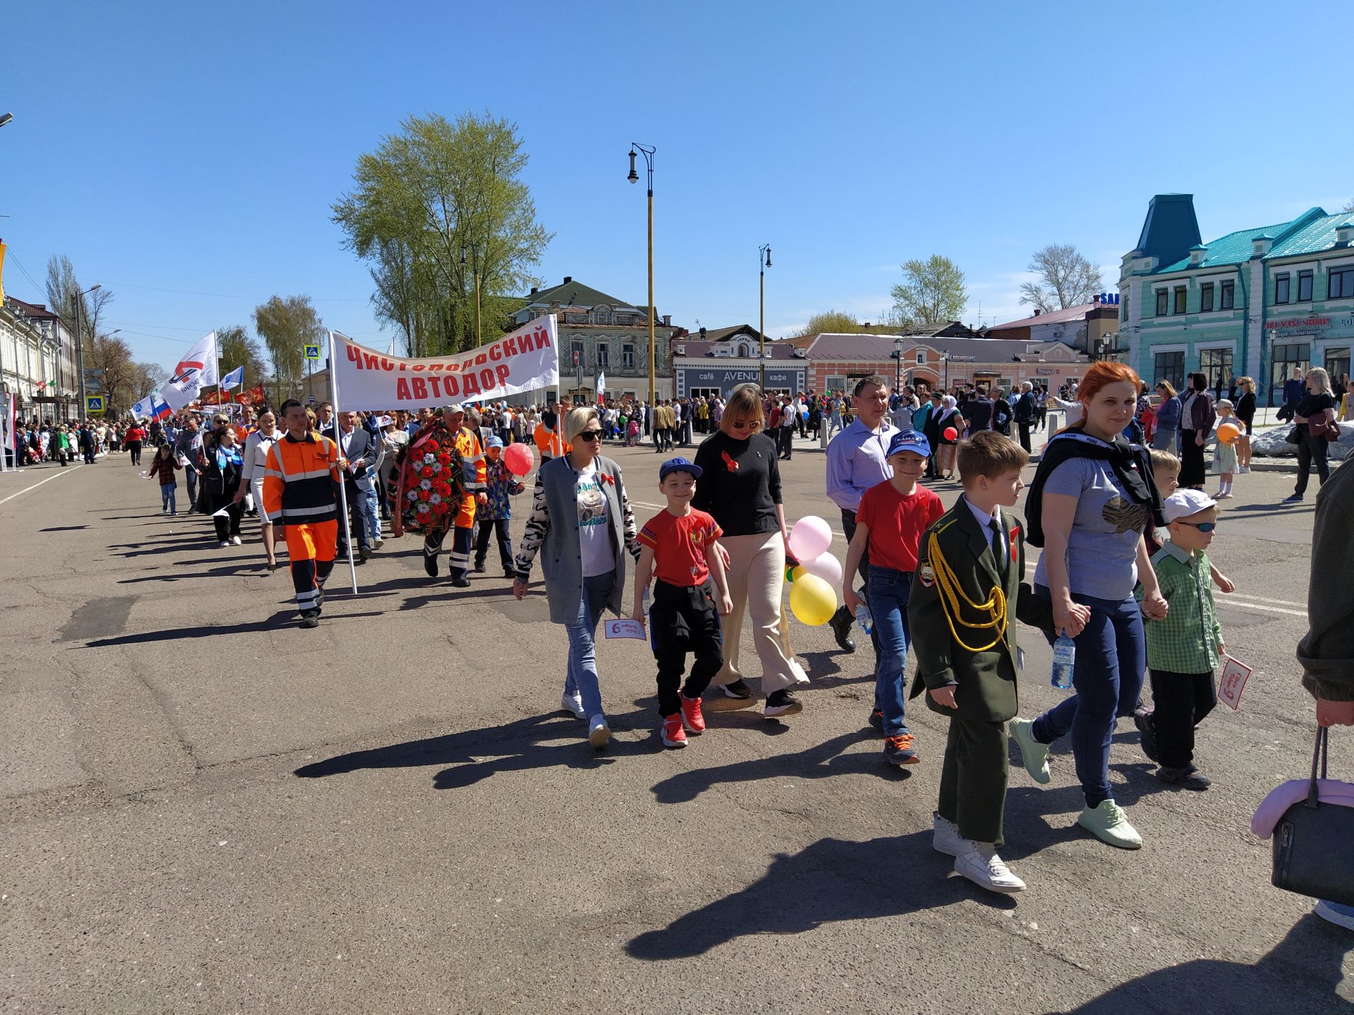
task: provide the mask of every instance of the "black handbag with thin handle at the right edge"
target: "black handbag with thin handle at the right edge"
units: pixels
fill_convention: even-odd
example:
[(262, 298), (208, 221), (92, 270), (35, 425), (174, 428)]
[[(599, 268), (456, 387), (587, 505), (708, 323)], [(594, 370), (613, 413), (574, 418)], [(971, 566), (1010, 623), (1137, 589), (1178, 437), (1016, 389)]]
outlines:
[(1326, 742), (1316, 731), (1307, 800), (1293, 804), (1274, 826), (1271, 881), (1286, 892), (1354, 905), (1354, 807), (1323, 804), (1316, 773), (1326, 778)]

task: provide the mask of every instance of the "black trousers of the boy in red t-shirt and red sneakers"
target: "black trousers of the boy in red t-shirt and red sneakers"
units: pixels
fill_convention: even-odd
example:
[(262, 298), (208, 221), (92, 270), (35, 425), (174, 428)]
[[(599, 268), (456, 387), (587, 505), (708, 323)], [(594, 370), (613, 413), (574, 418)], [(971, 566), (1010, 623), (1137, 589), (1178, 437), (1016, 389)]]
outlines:
[[(658, 660), (658, 715), (670, 716), (681, 710), (678, 687), (688, 700), (699, 698), (724, 664), (714, 583), (708, 578), (700, 586), (669, 585), (662, 579), (654, 582), (649, 643)], [(682, 686), (686, 652), (695, 656), (695, 662)]]

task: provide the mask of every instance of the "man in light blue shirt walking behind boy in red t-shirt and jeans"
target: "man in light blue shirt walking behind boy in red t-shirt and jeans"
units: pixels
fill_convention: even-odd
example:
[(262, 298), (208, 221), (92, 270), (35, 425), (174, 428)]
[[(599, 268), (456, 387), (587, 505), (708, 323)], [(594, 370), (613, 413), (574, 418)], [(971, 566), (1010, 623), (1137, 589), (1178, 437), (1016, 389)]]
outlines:
[[(856, 401), (856, 418), (846, 429), (827, 445), (827, 497), (837, 505), (842, 518), (842, 532), (848, 543), (856, 536), (856, 510), (860, 508), (860, 498), (872, 486), (879, 486), (891, 475), (894, 470), (888, 466), (888, 444), (898, 430), (888, 422), (888, 380), (880, 375), (862, 378), (856, 382), (853, 391)], [(865, 570), (868, 562), (861, 556), (860, 581), (864, 586), (864, 598), (869, 602), (869, 574)], [(837, 644), (844, 652), (854, 652), (856, 641), (852, 637), (852, 612), (841, 606), (831, 621)], [(872, 631), (871, 646), (875, 648), (875, 669), (879, 669), (877, 635)]]

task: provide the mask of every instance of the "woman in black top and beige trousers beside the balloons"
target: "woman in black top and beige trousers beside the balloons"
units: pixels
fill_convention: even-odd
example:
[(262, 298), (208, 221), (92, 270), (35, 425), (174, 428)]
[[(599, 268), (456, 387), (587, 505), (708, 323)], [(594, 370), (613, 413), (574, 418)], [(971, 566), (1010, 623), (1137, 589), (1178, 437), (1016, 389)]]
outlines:
[(733, 612), (723, 618), (724, 666), (711, 681), (708, 708), (747, 708), (751, 690), (738, 666), (743, 609), (753, 618), (753, 644), (762, 666), (764, 715), (789, 716), (803, 709), (789, 689), (808, 677), (789, 650), (789, 627), (781, 613), (789, 537), (780, 502), (780, 464), (776, 443), (762, 433), (761, 397), (743, 384), (728, 397), (719, 433), (701, 441), (696, 464), (703, 470), (692, 508), (709, 512), (724, 535), (726, 572)]

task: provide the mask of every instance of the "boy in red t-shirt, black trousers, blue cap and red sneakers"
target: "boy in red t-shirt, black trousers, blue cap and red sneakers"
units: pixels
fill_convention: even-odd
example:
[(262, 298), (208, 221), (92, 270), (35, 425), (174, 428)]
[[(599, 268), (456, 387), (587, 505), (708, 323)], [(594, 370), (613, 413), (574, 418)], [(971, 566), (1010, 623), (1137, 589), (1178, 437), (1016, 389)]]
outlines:
[[(685, 747), (688, 732), (705, 729), (700, 696), (724, 664), (719, 616), (728, 616), (733, 609), (724, 564), (715, 547), (724, 533), (712, 517), (691, 506), (701, 471), (686, 459), (665, 461), (658, 470), (658, 490), (668, 498), (668, 508), (639, 531), (634, 618), (645, 623), (645, 593), (657, 575), (647, 620), (650, 646), (658, 660), (658, 715), (663, 719), (665, 747)], [(682, 687), (686, 652), (695, 662)]]

